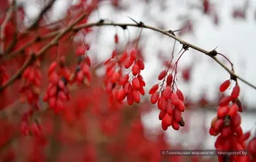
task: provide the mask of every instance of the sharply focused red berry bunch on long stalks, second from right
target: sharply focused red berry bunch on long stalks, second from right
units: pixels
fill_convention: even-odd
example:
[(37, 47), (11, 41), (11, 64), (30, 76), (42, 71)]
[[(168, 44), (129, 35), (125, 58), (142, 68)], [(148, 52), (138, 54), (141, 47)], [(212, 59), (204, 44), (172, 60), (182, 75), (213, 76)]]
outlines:
[[(149, 93), (151, 95), (150, 102), (157, 103), (160, 111), (159, 120), (161, 120), (161, 127), (167, 130), (172, 127), (174, 130), (179, 130), (179, 127), (184, 127), (185, 122), (182, 119), (182, 112), (185, 111), (184, 96), (180, 89), (174, 89), (175, 81), (173, 75), (168, 74), (168, 70), (164, 69), (158, 76), (158, 80), (163, 80), (161, 88), (159, 84), (151, 87)], [(164, 83), (166, 86), (164, 88)], [(160, 88), (160, 89), (159, 89)]]

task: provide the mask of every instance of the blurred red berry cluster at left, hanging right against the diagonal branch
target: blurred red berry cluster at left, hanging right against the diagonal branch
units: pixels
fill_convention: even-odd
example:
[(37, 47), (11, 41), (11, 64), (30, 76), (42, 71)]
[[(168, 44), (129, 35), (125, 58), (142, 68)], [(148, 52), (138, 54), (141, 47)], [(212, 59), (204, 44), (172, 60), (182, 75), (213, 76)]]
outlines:
[(19, 89), (19, 93), (22, 94), (21, 100), (27, 100), (27, 102), (33, 106), (36, 110), (39, 109), (38, 100), (40, 94), (42, 74), (40, 72), (40, 61), (36, 61), (33, 66), (29, 66), (22, 74), (22, 87)]

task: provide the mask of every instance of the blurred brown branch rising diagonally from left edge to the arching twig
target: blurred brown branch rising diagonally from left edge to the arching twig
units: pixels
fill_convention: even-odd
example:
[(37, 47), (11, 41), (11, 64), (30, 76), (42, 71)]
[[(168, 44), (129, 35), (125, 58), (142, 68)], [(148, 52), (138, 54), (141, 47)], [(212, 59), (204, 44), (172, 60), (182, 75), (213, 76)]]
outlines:
[(62, 31), (52, 40), (50, 41), (46, 46), (44, 46), (42, 49), (40, 49), (39, 52), (37, 52), (36, 54), (32, 54), (30, 56), (30, 58), (22, 65), (22, 67), (19, 69), (19, 71), (17, 73), (15, 73), (12, 78), (9, 79), (9, 81), (7, 83), (5, 83), (3, 86), (0, 87), (0, 92), (5, 89), (5, 87), (11, 85), (12, 83), (14, 83), (16, 81), (16, 79), (18, 79), (22, 73), (24, 72), (24, 70), (31, 64), (33, 63), (36, 58), (43, 56), (43, 54), (45, 52), (47, 52), (48, 49), (50, 49), (50, 47), (52, 46), (56, 46), (58, 41), (62, 38), (62, 36), (64, 36), (67, 32), (71, 31), (72, 27), (74, 27), (74, 25), (76, 25), (78, 22), (80, 22), (82, 19), (84, 19), (86, 16), (86, 14), (81, 15), (77, 20), (75, 20), (73, 23), (71, 23), (71, 25), (68, 25), (66, 29), (62, 29)]

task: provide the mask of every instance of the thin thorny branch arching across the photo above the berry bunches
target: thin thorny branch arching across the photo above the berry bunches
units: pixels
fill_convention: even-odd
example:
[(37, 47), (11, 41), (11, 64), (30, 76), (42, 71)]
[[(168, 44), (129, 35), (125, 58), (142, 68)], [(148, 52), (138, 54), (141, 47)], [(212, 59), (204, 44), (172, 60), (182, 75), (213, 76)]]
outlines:
[[(81, 25), (76, 25), (74, 27), (71, 27), (70, 30), (74, 30), (74, 31), (78, 31), (80, 29), (85, 29), (85, 28), (90, 28), (90, 27), (93, 27), (93, 26), (104, 26), (104, 25), (112, 25), (112, 26), (119, 26), (123, 29), (126, 29), (127, 26), (133, 26), (133, 27), (139, 27), (141, 28), (141, 25), (140, 24), (131, 24), (131, 23), (114, 23), (114, 22), (102, 22), (102, 21), (99, 21), (99, 22), (92, 22), (92, 23), (87, 23), (87, 24), (81, 24)], [(188, 46), (192, 49), (195, 49), (199, 52), (202, 52), (204, 54), (206, 54), (207, 56), (211, 57), (212, 59), (214, 59), (218, 64), (220, 64), (220, 66), (223, 67), (223, 69), (225, 69), (228, 73), (230, 73), (231, 76), (234, 76), (235, 78), (237, 79), (240, 79), (240, 81), (242, 81), (243, 83), (247, 84), (248, 86), (251, 86), (252, 88), (256, 89), (256, 86), (254, 86), (252, 83), (249, 83), (247, 82), (247, 80), (241, 78), (240, 76), (238, 76), (236, 73), (234, 73), (231, 69), (229, 69), (227, 66), (225, 66), (223, 64), (223, 62), (220, 62), (219, 59), (216, 58), (216, 56), (213, 56), (213, 50), (212, 51), (207, 51), (206, 49), (201, 49), (199, 48), (198, 46), (194, 46), (192, 44), (190, 44), (189, 42), (185, 42), (184, 40), (178, 38), (176, 35), (172, 35), (171, 33), (169, 33), (168, 31), (169, 30), (164, 30), (164, 29), (158, 29), (158, 28), (155, 28), (154, 26), (150, 26), (150, 25), (143, 25), (143, 28), (145, 29), (151, 29), (151, 30), (154, 30), (156, 32), (161, 32), (162, 34), (164, 35), (168, 35), (169, 37), (171, 37), (172, 39), (175, 39), (177, 40), (178, 42), (180, 42), (183, 46)], [(50, 32), (48, 33), (47, 35), (44, 35), (44, 36), (41, 36), (39, 37), (40, 40), (43, 40), (43, 39), (50, 39), (51, 37), (55, 36), (55, 35), (58, 35), (60, 32), (62, 31), (61, 30), (57, 30), (57, 31), (54, 31), (54, 32)], [(35, 41), (34, 41), (35, 42)], [(33, 41), (32, 42), (29, 42), (29, 44), (33, 44)], [(26, 47), (29, 46), (28, 43), (25, 45)], [(25, 49), (25, 48), (21, 48), (21, 49)], [(19, 52), (22, 52), (21, 49), (18, 49), (16, 52), (13, 52), (13, 53), (10, 53), (9, 57), (12, 57), (12, 55), (14, 55), (14, 53), (17, 55), (19, 54)], [(1, 62), (1, 61), (0, 61)], [(17, 76), (14, 78), (12, 77), (12, 79), (17, 79)], [(4, 87), (0, 87), (0, 92), (2, 91), (3, 88), (5, 88), (6, 86), (9, 86), (11, 85), (15, 80), (12, 80), (12, 82), (10, 83), (10, 81), (8, 81), (7, 83), (5, 83)]]

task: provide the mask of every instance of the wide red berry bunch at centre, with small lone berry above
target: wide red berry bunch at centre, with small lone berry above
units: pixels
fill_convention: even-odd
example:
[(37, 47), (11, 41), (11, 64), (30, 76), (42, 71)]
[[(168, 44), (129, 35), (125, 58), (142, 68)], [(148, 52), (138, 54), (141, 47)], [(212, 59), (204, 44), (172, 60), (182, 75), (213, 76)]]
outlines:
[[(118, 37), (115, 36), (115, 42)], [(106, 92), (110, 93), (119, 102), (125, 98), (129, 105), (140, 103), (140, 95), (144, 95), (146, 85), (140, 71), (144, 69), (144, 61), (138, 55), (137, 49), (132, 49), (130, 55), (125, 51), (117, 55), (116, 50), (105, 62), (106, 67)], [(129, 73), (123, 74), (123, 67), (130, 69)]]

